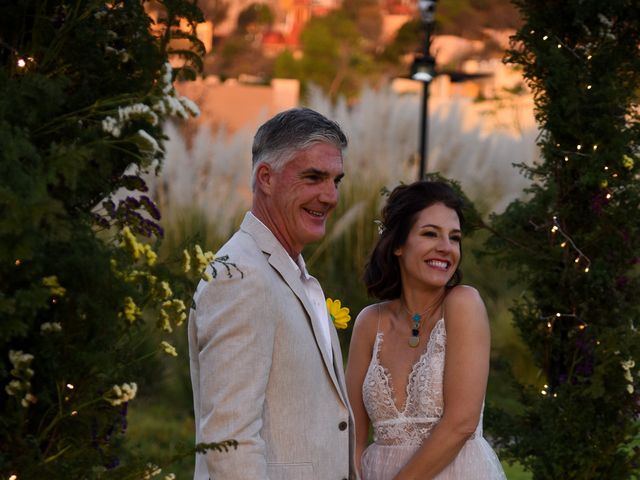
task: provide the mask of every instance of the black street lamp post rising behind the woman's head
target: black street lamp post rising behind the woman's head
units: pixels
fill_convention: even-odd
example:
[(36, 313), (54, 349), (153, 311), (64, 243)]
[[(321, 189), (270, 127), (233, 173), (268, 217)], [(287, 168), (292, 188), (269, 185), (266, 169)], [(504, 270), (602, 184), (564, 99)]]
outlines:
[(436, 60), (431, 56), (431, 30), (437, 0), (418, 0), (420, 20), (424, 29), (423, 50), (416, 54), (411, 65), (411, 78), (422, 82), (422, 101), (420, 112), (420, 171), (418, 180), (427, 173), (429, 144), (429, 84), (436, 75)]

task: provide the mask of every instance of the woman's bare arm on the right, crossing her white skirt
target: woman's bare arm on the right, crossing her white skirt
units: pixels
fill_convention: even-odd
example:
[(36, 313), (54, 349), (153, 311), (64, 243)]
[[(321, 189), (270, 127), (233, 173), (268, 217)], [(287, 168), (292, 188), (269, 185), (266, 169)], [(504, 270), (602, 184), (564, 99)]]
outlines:
[(437, 475), (473, 435), (482, 413), (491, 348), (484, 302), (474, 288), (458, 286), (447, 295), (444, 308), (443, 416), (395, 480), (425, 480)]

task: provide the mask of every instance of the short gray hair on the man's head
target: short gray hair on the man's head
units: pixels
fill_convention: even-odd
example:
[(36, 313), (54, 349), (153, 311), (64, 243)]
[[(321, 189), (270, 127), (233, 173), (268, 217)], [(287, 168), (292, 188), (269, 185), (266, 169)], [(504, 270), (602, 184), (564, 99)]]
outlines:
[(278, 171), (296, 153), (318, 143), (328, 143), (343, 151), (348, 142), (336, 122), (310, 108), (292, 108), (267, 120), (253, 137), (252, 189), (255, 190), (258, 166), (266, 163)]

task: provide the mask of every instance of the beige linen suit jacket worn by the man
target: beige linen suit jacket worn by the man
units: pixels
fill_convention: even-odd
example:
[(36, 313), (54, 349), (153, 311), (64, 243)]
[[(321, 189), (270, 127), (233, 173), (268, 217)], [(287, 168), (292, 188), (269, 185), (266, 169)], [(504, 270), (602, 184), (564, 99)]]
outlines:
[(198, 285), (189, 355), (196, 441), (239, 444), (197, 454), (194, 478), (349, 478), (353, 416), (334, 326), (331, 362), (299, 272), (251, 213), (224, 255), (242, 275), (214, 264), (215, 278)]

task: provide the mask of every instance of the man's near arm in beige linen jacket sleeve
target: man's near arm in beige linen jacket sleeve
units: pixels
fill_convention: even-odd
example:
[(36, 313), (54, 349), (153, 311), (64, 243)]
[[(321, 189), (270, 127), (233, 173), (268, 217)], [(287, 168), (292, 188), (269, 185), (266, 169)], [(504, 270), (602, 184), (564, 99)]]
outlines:
[(198, 378), (192, 379), (199, 386), (199, 441), (238, 442), (235, 450), (207, 451), (212, 479), (267, 478), (260, 430), (276, 325), (264, 275), (241, 269), (242, 276), (219, 272), (204, 285), (191, 319), (191, 352), (199, 363)]

